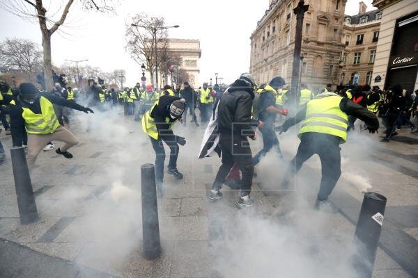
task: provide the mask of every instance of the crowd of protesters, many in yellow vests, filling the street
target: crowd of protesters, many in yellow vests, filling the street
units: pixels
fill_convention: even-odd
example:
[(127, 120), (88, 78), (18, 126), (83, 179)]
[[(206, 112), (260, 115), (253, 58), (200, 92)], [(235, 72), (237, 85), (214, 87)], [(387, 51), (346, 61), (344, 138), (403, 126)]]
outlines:
[[(354, 85), (332, 91), (330, 86), (312, 92), (301, 84), (294, 94), (286, 88), (286, 82), (275, 76), (268, 84), (257, 85), (250, 74), (242, 74), (228, 88), (218, 84), (203, 83), (198, 89), (184, 82), (165, 85), (156, 90), (153, 85), (137, 83), (133, 88), (107, 88), (89, 80), (86, 88), (72, 89), (65, 79), (56, 79), (49, 92), (40, 91), (32, 83), (22, 83), (19, 88), (0, 81), (0, 120), (6, 135), (11, 135), (13, 146), (24, 147), (29, 167), (42, 151), (54, 149), (53, 141), (64, 142), (56, 153), (72, 158), (68, 152), (77, 145), (77, 138), (70, 132), (70, 111), (85, 113), (106, 111), (123, 107), (125, 117), (141, 121), (155, 151), (155, 179), (157, 195), (163, 194), (165, 151), (169, 147), (167, 173), (177, 179), (183, 174), (177, 168), (179, 145), (186, 138), (173, 133), (171, 126), (180, 122), (187, 126), (206, 125), (199, 158), (218, 154), (222, 156), (208, 199), (222, 198), (221, 188), (226, 184), (240, 189), (236, 205), (248, 207), (254, 204), (250, 197), (254, 167), (274, 150), (282, 158), (277, 132), (286, 132), (291, 126), (300, 125), (300, 145), (281, 187), (288, 183), (304, 161), (318, 154), (322, 163), (323, 177), (317, 197), (317, 205), (327, 200), (341, 174), (339, 145), (348, 140), (347, 134), (355, 129), (357, 119), (364, 122), (363, 129), (378, 131), (378, 116), (386, 128), (382, 141), (388, 142), (397, 135), (396, 129), (408, 125), (417, 133), (417, 91), (407, 92), (401, 85), (391, 85), (385, 90), (378, 86)], [(86, 107), (77, 102), (87, 104)], [(91, 107), (91, 108), (89, 108)], [(196, 113), (199, 111), (199, 113)], [(200, 115), (200, 123), (197, 115)], [(7, 119), (9, 117), (9, 120)], [(66, 126), (66, 127), (65, 127)], [(254, 154), (249, 139), (256, 140), (260, 131), (263, 148)], [(0, 163), (5, 159), (0, 142)]]

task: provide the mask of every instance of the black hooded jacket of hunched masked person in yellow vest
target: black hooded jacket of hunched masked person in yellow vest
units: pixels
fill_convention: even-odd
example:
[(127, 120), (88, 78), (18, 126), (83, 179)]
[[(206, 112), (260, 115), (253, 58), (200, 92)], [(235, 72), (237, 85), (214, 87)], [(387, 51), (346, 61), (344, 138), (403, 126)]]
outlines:
[[(173, 131), (170, 129), (170, 124), (176, 122), (178, 118), (172, 119), (170, 117), (170, 104), (180, 99), (180, 97), (173, 97), (164, 95), (158, 100), (158, 104), (151, 111), (150, 116), (154, 118), (157, 131), (160, 136), (173, 136)], [(169, 118), (169, 123), (166, 123), (166, 118)]]

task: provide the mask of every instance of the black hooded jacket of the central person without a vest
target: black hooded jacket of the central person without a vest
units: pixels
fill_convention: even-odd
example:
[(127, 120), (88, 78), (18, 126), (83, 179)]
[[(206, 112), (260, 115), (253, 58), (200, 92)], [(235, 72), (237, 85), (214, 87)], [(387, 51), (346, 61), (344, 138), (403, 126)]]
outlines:
[(253, 99), (253, 89), (247, 87), (245, 81), (238, 79), (232, 83), (219, 100), (217, 113), (219, 133), (233, 133), (235, 136), (254, 138), (252, 126), (256, 126), (256, 122), (251, 120)]

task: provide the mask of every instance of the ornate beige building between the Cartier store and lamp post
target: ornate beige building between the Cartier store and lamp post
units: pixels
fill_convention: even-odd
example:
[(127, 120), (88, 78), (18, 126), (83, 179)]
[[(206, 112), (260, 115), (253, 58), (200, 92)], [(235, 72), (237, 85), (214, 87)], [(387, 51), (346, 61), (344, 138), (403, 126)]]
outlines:
[(357, 15), (344, 17), (341, 42), (345, 48), (339, 65), (340, 85), (352, 85), (355, 74), (358, 74), (358, 84), (371, 84), (382, 12), (372, 10), (366, 13), (366, 8), (366, 4), (360, 2)]

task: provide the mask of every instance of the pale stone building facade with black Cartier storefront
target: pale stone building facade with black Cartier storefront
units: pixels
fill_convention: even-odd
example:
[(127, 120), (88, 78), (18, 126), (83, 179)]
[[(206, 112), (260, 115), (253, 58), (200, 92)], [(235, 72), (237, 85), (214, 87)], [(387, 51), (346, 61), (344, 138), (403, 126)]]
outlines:
[(374, 0), (382, 10), (371, 85), (418, 89), (418, 0)]

